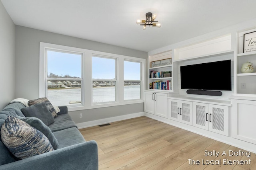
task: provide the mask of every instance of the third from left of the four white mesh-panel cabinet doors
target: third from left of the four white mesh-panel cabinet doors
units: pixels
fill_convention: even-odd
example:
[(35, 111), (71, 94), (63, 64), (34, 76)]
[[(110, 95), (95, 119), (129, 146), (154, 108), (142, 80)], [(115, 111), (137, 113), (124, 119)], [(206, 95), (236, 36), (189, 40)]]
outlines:
[(209, 104), (193, 103), (193, 126), (209, 130)]

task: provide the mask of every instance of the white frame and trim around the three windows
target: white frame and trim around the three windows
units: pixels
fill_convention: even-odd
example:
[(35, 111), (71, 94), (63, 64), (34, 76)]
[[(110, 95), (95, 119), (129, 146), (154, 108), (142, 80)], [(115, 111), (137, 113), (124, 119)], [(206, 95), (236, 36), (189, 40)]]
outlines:
[[(45, 97), (45, 88), (47, 87), (46, 71), (46, 53), (45, 49), (69, 51), (72, 53), (81, 53), (82, 56), (82, 104), (79, 106), (68, 106), (68, 111), (94, 109), (101, 107), (121, 106), (126, 104), (138, 104), (144, 102), (144, 96), (141, 94), (139, 100), (124, 100), (124, 60), (141, 62), (141, 93), (145, 90), (146, 81), (146, 59), (130, 57), (101, 51), (93, 51), (64, 45), (40, 42), (39, 54), (39, 98)], [(109, 57), (116, 59), (116, 102), (92, 104), (92, 56)]]

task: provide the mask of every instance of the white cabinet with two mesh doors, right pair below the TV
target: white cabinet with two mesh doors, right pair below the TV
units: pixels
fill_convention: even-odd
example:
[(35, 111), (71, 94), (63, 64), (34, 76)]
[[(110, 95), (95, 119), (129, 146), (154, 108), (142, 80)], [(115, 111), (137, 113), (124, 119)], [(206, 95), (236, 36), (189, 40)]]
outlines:
[(193, 102), (193, 126), (228, 136), (228, 106)]

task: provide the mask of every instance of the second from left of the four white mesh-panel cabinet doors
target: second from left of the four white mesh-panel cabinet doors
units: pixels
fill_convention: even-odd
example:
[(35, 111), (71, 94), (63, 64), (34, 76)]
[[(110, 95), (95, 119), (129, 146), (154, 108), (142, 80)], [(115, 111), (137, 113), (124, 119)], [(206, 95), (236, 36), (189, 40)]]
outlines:
[(193, 125), (193, 102), (180, 101), (180, 122)]

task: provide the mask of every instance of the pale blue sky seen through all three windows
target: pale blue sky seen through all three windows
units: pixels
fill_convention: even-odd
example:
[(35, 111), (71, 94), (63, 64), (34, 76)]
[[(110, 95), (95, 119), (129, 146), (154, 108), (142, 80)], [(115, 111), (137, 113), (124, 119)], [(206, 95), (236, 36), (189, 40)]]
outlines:
[[(48, 51), (48, 74), (81, 77), (81, 55)], [(92, 57), (92, 78), (115, 78), (115, 59)], [(140, 63), (124, 61), (124, 79), (140, 80)]]

